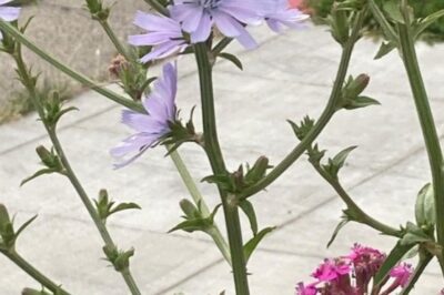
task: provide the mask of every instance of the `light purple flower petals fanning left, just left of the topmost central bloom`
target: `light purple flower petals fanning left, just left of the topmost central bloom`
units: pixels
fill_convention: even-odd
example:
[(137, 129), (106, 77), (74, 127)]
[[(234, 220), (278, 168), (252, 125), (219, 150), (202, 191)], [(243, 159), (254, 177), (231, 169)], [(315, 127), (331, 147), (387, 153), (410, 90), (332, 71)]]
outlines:
[(153, 47), (151, 52), (141, 59), (141, 62), (164, 59), (184, 51), (188, 47), (181, 26), (174, 19), (138, 11), (134, 24), (148, 32), (130, 35), (129, 43), (135, 47)]

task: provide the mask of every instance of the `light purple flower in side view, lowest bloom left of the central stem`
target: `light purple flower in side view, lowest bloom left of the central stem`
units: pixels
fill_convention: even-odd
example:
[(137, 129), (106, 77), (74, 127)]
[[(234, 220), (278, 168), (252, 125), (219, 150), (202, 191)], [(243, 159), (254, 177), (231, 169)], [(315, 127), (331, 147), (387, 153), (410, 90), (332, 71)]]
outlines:
[(122, 123), (135, 130), (137, 133), (111, 150), (111, 155), (123, 160), (114, 167), (119, 169), (133, 162), (149, 148), (159, 144), (171, 131), (170, 122), (174, 122), (176, 119), (174, 103), (176, 84), (176, 68), (172, 63), (167, 63), (163, 65), (162, 78), (154, 82), (152, 92), (143, 100), (147, 114), (130, 110), (123, 111)]

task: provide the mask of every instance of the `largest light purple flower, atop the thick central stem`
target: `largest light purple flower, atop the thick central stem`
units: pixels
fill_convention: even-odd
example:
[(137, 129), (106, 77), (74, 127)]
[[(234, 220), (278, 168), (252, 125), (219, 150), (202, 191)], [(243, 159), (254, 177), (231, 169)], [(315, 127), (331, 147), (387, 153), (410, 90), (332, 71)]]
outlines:
[(182, 29), (191, 34), (191, 42), (204, 42), (213, 24), (226, 37), (235, 38), (248, 49), (256, 42), (245, 30), (245, 24), (259, 24), (263, 19), (258, 0), (175, 0), (170, 8)]

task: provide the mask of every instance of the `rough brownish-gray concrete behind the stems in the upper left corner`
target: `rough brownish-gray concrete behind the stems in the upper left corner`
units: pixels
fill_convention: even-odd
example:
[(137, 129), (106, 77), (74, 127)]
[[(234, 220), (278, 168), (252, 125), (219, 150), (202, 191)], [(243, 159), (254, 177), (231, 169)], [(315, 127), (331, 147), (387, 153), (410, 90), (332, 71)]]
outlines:
[[(129, 32), (135, 30), (132, 19), (138, 9), (148, 10), (141, 0), (103, 1), (113, 6), (110, 24), (122, 41)], [(110, 80), (108, 67), (115, 55), (102, 28), (91, 20), (89, 12), (80, 0), (40, 0), (38, 6), (24, 7), (20, 17), (21, 23), (33, 17), (27, 34), (32, 41), (56, 58), (97, 81)], [(33, 53), (26, 52), (26, 60), (36, 72), (44, 72), (41, 82), (47, 81), (51, 88), (64, 90), (67, 94), (78, 93), (81, 85), (74, 83), (63, 73), (46, 64)], [(0, 54), (0, 122), (3, 116), (13, 116), (20, 111), (17, 102), (21, 87), (16, 83), (13, 62), (6, 54)], [(14, 103), (16, 102), (16, 103)]]

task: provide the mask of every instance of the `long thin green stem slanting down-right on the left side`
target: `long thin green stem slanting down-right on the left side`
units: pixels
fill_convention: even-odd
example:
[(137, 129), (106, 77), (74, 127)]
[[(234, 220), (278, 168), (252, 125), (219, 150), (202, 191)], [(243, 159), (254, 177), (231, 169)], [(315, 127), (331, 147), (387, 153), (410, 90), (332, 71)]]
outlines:
[[(74, 171), (72, 170), (72, 167), (68, 161), (68, 157), (64, 154), (62, 145), (57, 136), (56, 126), (49, 125), (44, 120), (44, 110), (41, 105), (40, 98), (36, 92), (36, 85), (34, 85), (33, 78), (30, 77), (30, 72), (23, 62), (20, 47), (18, 48), (17, 52), (13, 54), (13, 58), (17, 62), (18, 72), (20, 74), (20, 78), (22, 79), (23, 85), (29, 91), (30, 98), (32, 99), (36, 110), (37, 110), (41, 121), (43, 122), (47, 133), (53, 144), (53, 148), (56, 149), (57, 154), (60, 157), (61, 163), (63, 164), (64, 175), (67, 175), (67, 177), (71, 182), (72, 186), (74, 187), (75, 192), (80, 196), (82, 203), (87, 207), (87, 211), (90, 214), (92, 221), (94, 222), (97, 228), (99, 230), (99, 233), (100, 233), (102, 240), (104, 241), (105, 245), (110, 248), (115, 248), (115, 244), (112, 241), (111, 235), (109, 234), (105, 224), (102, 222), (99, 214), (97, 213), (94, 205), (92, 204), (87, 192), (84, 191), (83, 186), (81, 185), (80, 181), (78, 180)], [(121, 272), (121, 274), (122, 274), (129, 289), (131, 291), (131, 294), (132, 295), (141, 295), (138, 286), (134, 283), (133, 277), (131, 276), (130, 271), (124, 269), (123, 272)]]

